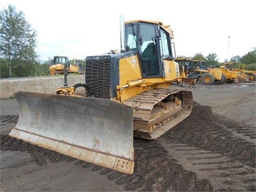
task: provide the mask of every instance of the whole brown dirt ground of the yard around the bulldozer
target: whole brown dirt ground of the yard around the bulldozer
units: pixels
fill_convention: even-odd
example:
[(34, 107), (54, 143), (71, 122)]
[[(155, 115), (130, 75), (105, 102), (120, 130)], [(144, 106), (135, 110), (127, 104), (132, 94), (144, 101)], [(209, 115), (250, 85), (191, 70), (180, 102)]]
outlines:
[(9, 137), (18, 104), (1, 99), (1, 191), (255, 191), (256, 83), (191, 90), (188, 118), (156, 140), (134, 138), (132, 175)]

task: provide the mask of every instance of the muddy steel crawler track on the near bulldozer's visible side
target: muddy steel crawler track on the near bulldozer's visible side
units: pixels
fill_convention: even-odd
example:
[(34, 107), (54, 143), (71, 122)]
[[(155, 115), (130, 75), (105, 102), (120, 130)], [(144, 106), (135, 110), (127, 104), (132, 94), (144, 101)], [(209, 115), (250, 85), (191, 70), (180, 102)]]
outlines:
[[(177, 97), (180, 96), (183, 98), (182, 105), (188, 110), (176, 106), (175, 102), (170, 100), (166, 103), (163, 102), (170, 95), (178, 95)], [(189, 89), (154, 89), (142, 92), (123, 103), (133, 107), (134, 136), (145, 139), (156, 139), (189, 116), (193, 107), (193, 97)], [(155, 107), (157, 104), (160, 104), (160, 107)], [(166, 129), (162, 129), (162, 125), (170, 121), (172, 125), (169, 125)]]

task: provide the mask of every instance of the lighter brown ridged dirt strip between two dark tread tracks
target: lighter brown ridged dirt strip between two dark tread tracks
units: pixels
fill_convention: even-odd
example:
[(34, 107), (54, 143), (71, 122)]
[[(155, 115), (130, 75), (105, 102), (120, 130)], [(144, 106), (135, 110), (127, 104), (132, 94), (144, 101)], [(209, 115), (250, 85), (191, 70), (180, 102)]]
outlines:
[(213, 151), (162, 138), (160, 142), (185, 170), (195, 172), (198, 179), (208, 179), (214, 190), (255, 190), (255, 169), (252, 167)]

